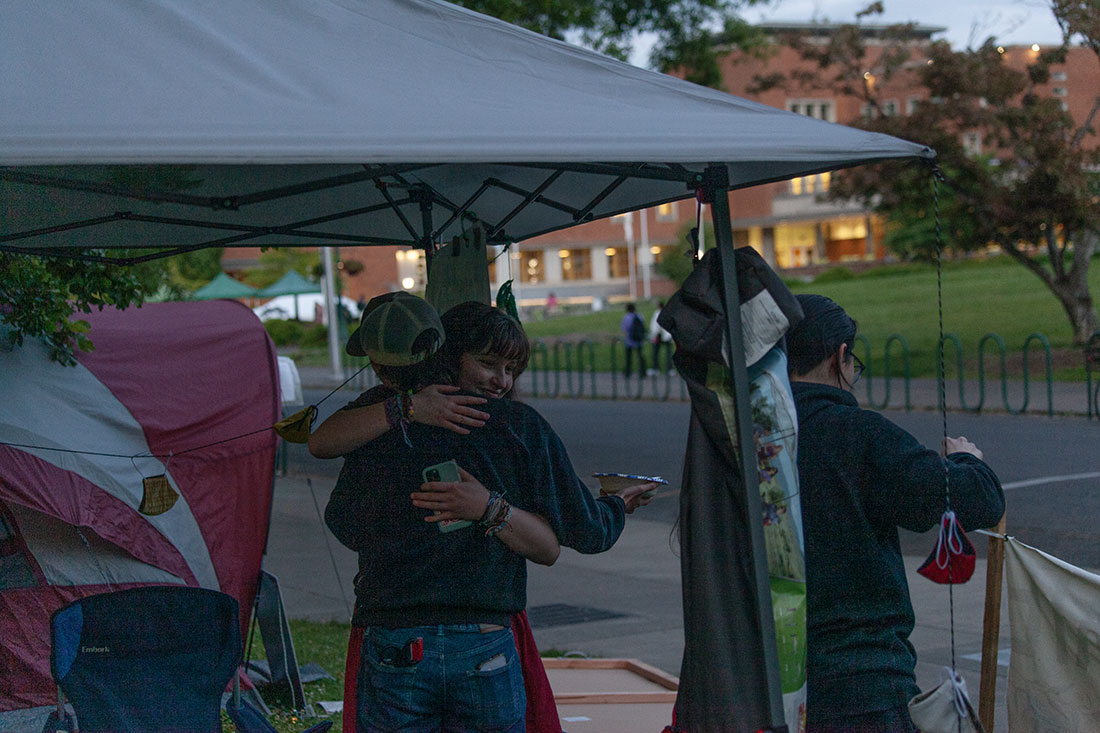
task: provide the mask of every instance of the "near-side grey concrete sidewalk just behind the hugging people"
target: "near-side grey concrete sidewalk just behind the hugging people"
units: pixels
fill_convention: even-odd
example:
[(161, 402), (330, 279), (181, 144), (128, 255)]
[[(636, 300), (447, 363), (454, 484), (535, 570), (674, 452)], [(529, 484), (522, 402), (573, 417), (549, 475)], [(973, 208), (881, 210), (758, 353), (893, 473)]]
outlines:
[[(312, 495), (305, 477), (276, 479), (264, 567), (278, 578), (287, 615), (344, 621), (352, 601), (355, 556), (324, 529), (315, 508), (316, 496), (323, 512), (334, 479), (308, 481), (312, 483)], [(529, 564), (528, 609), (539, 647), (637, 658), (679, 675), (683, 652), (680, 560), (670, 530), (667, 523), (630, 517), (622, 538), (607, 553), (580, 555), (563, 549), (553, 567)], [(986, 540), (976, 537), (975, 541)], [(336, 570), (327, 546), (336, 558)], [(917, 683), (930, 689), (938, 683), (943, 667), (950, 665), (950, 623), (947, 587), (935, 586), (915, 573), (923, 559), (908, 557), (906, 570), (916, 612), (912, 642), (920, 659)], [(976, 705), (985, 589), (986, 561), (979, 557), (970, 582), (954, 589), (956, 667), (967, 680)], [(600, 615), (594, 612), (604, 612), (603, 619), (583, 620), (585, 615)], [(537, 622), (540, 614), (543, 623)], [(1005, 666), (998, 671), (997, 731), (1008, 730), (1008, 631), (1002, 600), (1000, 648)], [(308, 652), (299, 650), (299, 655), (300, 663), (309, 661)]]

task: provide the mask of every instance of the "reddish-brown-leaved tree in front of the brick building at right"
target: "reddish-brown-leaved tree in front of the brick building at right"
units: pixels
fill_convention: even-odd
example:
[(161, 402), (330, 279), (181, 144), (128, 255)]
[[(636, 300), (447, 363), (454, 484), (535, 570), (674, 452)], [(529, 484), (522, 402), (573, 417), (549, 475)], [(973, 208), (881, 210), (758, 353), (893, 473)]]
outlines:
[[(875, 3), (827, 44), (793, 40), (816, 72), (781, 83), (825, 81), (860, 99), (868, 110), (860, 127), (935, 149), (946, 243), (961, 250), (998, 245), (1057, 297), (1075, 343), (1082, 344), (1100, 329), (1088, 286), (1100, 240), (1100, 141), (1093, 130), (1100, 90), (1085, 119), (1075, 122), (1042, 85), (1076, 40), (1100, 63), (1100, 13), (1094, 0), (1049, 6), (1063, 44), (1020, 63), (994, 39), (972, 50), (936, 42), (917, 52), (905, 40), (906, 25), (893, 26), (891, 42), (872, 54), (859, 21), (881, 12)], [(916, 77), (927, 99), (910, 114), (890, 114), (881, 89), (903, 74)], [(889, 220), (888, 243), (920, 256), (935, 247), (928, 182), (928, 172), (912, 165), (865, 166), (837, 176), (829, 195), (872, 206)]]

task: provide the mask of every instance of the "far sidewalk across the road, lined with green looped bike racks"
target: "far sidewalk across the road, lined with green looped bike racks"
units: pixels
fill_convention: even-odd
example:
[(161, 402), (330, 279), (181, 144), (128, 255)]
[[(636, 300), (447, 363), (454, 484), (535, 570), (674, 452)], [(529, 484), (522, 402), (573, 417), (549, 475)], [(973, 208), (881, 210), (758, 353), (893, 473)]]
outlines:
[[(353, 372), (336, 375), (327, 366), (299, 366), (304, 389), (331, 390), (339, 386)], [(371, 370), (364, 370), (345, 389), (362, 391), (376, 384)], [(870, 386), (870, 394), (868, 393)], [(876, 409), (905, 409), (906, 402), (912, 409), (938, 409), (939, 389), (936, 380), (910, 380), (906, 401), (905, 382), (891, 379), (888, 384), (881, 376), (864, 378), (856, 385), (855, 395), (864, 406)], [(1021, 380), (1010, 380), (1002, 392), (1000, 380), (986, 383), (985, 398), (980, 392), (978, 380), (966, 380), (963, 383), (963, 398), (968, 409), (981, 404), (982, 411), (990, 413), (1008, 413), (1021, 411), (1026, 405), (1027, 415), (1046, 415), (1053, 408), (1055, 415), (1088, 415), (1087, 384), (1085, 382), (1054, 382), (1050, 394), (1047, 395), (1045, 381), (1032, 381), (1024, 390)], [(1096, 384), (1093, 384), (1096, 389)], [(519, 390), (530, 397), (593, 397), (591, 374), (566, 372), (535, 372), (528, 369), (519, 379)], [(887, 398), (889, 397), (889, 401)], [(1049, 397), (1049, 398), (1048, 398)], [(600, 372), (595, 375), (595, 398), (597, 400), (672, 400), (686, 401), (688, 387), (679, 375), (647, 376), (639, 384), (637, 376), (625, 380), (622, 374)], [(960, 409), (964, 404), (959, 400), (958, 380), (948, 380), (945, 384), (947, 408)], [(1008, 404), (1005, 404), (1008, 400)], [(1026, 403), (1025, 403), (1026, 400)]]

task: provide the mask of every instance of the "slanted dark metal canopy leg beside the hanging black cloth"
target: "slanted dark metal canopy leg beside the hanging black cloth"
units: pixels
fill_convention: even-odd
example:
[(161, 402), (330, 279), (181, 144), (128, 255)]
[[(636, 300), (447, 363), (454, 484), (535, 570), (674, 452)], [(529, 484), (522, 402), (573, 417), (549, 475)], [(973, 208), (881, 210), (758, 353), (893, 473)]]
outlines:
[(745, 337), (741, 332), (740, 293), (737, 286), (737, 263), (734, 258), (734, 232), (730, 222), (726, 166), (712, 163), (704, 172), (704, 200), (711, 199), (714, 240), (722, 263), (722, 294), (726, 311), (726, 337), (729, 344), (729, 373), (734, 387), (734, 408), (737, 416), (737, 448), (740, 455), (741, 482), (745, 485), (745, 505), (748, 530), (752, 546), (752, 566), (756, 570), (752, 591), (756, 595), (760, 623), (760, 642), (763, 647), (763, 674), (768, 689), (769, 724), (772, 731), (787, 731), (783, 714), (783, 687), (779, 675), (779, 646), (776, 642), (776, 622), (772, 616), (771, 583), (768, 573), (768, 550), (763, 538), (763, 506), (760, 502), (760, 477), (752, 438), (752, 411), (749, 403), (749, 376), (745, 358)]

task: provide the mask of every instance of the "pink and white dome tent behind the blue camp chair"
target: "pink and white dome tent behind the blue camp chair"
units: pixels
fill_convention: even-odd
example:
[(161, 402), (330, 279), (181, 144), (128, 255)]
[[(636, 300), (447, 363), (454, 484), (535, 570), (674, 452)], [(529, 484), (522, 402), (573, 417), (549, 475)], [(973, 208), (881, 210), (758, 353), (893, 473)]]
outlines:
[[(229, 300), (85, 318), (96, 348), (76, 366), (33, 339), (0, 350), (0, 727), (56, 700), (62, 605), (197, 586), (234, 597), (243, 632), (260, 579), (279, 419), (263, 325)], [(161, 474), (172, 491), (150, 495)]]

